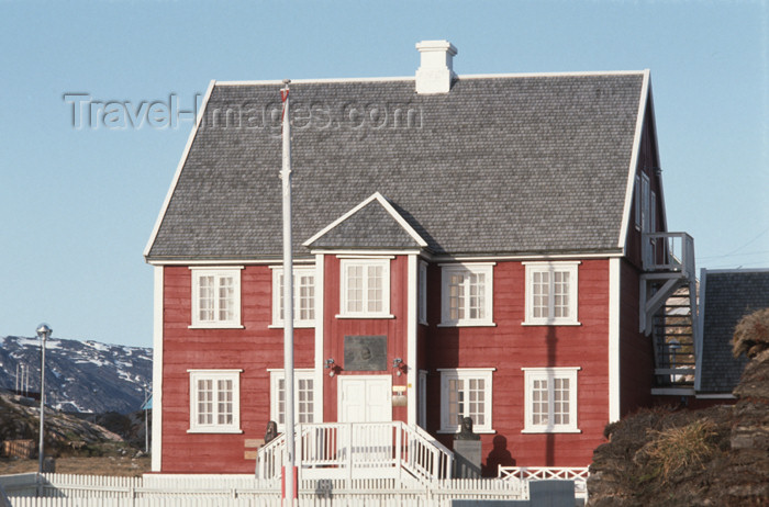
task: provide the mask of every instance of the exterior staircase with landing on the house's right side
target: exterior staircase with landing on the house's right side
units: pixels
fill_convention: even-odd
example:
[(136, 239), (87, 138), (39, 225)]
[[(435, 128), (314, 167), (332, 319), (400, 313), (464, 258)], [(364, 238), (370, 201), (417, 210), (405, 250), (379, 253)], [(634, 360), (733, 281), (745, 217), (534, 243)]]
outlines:
[(692, 390), (696, 367), (694, 240), (686, 233), (644, 234), (640, 331), (651, 337), (659, 388)]

